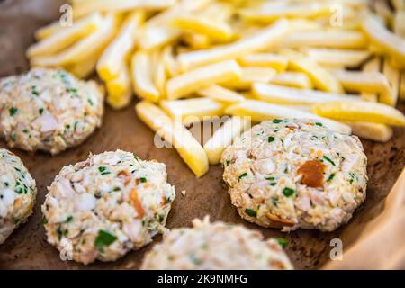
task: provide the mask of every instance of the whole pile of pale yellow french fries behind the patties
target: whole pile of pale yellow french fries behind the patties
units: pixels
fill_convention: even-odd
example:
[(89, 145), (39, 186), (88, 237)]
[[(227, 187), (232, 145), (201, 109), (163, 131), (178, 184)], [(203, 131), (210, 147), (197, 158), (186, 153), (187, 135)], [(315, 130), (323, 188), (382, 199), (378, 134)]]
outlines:
[[(252, 121), (312, 118), (386, 142), (405, 126), (405, 0), (72, 0), (31, 66), (103, 80), (197, 176)], [(187, 126), (229, 115), (205, 144)], [(180, 121), (176, 121), (179, 120)]]

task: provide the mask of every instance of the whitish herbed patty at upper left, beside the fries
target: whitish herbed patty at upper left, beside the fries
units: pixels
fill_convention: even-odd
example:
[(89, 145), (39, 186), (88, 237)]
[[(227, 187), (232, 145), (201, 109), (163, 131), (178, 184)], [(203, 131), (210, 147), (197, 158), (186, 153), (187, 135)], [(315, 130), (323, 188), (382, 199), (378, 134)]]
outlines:
[(0, 131), (10, 147), (57, 154), (83, 142), (103, 117), (95, 82), (62, 69), (33, 68), (0, 81)]

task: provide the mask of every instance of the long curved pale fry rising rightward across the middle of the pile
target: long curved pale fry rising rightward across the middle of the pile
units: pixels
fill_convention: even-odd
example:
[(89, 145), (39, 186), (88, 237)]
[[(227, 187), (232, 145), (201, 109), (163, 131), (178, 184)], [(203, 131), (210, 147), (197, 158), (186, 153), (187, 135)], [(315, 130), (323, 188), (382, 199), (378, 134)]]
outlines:
[(269, 48), (288, 31), (288, 22), (280, 20), (245, 39), (212, 49), (192, 51), (178, 56), (183, 71), (221, 60), (241, 58), (247, 54)]

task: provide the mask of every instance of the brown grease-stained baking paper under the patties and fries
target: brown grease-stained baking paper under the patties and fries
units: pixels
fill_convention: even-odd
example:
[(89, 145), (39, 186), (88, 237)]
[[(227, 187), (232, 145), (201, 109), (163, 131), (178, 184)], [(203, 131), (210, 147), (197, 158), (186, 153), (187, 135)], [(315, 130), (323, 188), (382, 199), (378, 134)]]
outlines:
[[(61, 0), (5, 0), (0, 1), (0, 76), (8, 76), (28, 70), (24, 57), (25, 50), (33, 41), (33, 31), (40, 26), (58, 18), (58, 8), (64, 3)], [(405, 105), (401, 104), (401, 111)], [(266, 238), (284, 237), (289, 240), (286, 252), (291, 257), (296, 268), (315, 269), (328, 263), (327, 268), (352, 268), (355, 257), (357, 263), (370, 263), (369, 253), (358, 250), (364, 231), (370, 227), (368, 223), (383, 215), (385, 198), (392, 189), (393, 184), (401, 174), (405, 164), (405, 133), (403, 129), (396, 129), (394, 138), (386, 144), (377, 144), (363, 141), (365, 152), (369, 159), (368, 175), (370, 181), (367, 190), (367, 200), (360, 207), (350, 223), (332, 233), (323, 233), (316, 230), (297, 230), (289, 234), (281, 233), (276, 229), (261, 229), (258, 226), (241, 220), (237, 211), (230, 204), (226, 186), (221, 180), (222, 168), (211, 166), (207, 175), (196, 179), (193, 173), (184, 165), (174, 148), (156, 148), (153, 145), (153, 136), (135, 115), (133, 105), (121, 112), (113, 112), (107, 107), (103, 119), (103, 127), (97, 130), (83, 145), (69, 149), (66, 152), (51, 157), (44, 153), (26, 153), (13, 149), (36, 179), (39, 194), (33, 215), (20, 229), (0, 246), (0, 268), (2, 269), (134, 269), (138, 268), (144, 254), (151, 245), (139, 251), (132, 251), (126, 257), (113, 263), (96, 262), (83, 266), (75, 262), (60, 260), (58, 250), (50, 246), (45, 239), (45, 231), (41, 223), (40, 204), (44, 201), (49, 185), (62, 166), (84, 160), (89, 152), (101, 153), (107, 150), (121, 148), (139, 155), (143, 159), (157, 159), (166, 163), (168, 181), (175, 185), (177, 196), (167, 221), (168, 228), (190, 226), (194, 218), (202, 218), (206, 214), (211, 220), (222, 220), (241, 223), (249, 229), (259, 229)], [(5, 148), (4, 141), (0, 147)], [(180, 193), (186, 190), (185, 197)], [(402, 186), (402, 193), (403, 193)], [(403, 199), (403, 198), (402, 198)], [(398, 207), (396, 207), (398, 211)], [(400, 210), (403, 212), (403, 206)], [(386, 226), (385, 221), (394, 220), (399, 213), (392, 213), (379, 225)], [(404, 214), (401, 221), (392, 222), (393, 230), (403, 232)], [(392, 228), (392, 227), (390, 227)], [(377, 237), (372, 242), (372, 251), (381, 247), (391, 247), (393, 251), (405, 249), (402, 233), (396, 241), (390, 238)], [(344, 246), (344, 260), (329, 260), (332, 247), (329, 243), (332, 238), (342, 238)], [(400, 241), (398, 241), (400, 239)], [(160, 240), (157, 237), (156, 243)], [(380, 242), (379, 242), (380, 241)], [(352, 251), (360, 251), (351, 253)], [(351, 254), (350, 254), (351, 253)], [(350, 255), (349, 255), (350, 254)], [(347, 257), (346, 257), (347, 255)], [(398, 254), (396, 254), (398, 255)], [(383, 258), (388, 261), (394, 254)], [(355, 261), (355, 262), (356, 262)], [(394, 260), (392, 260), (394, 261)], [(352, 265), (350, 265), (350, 263)], [(405, 262), (395, 260), (396, 268), (405, 268)], [(399, 263), (399, 264), (398, 264)], [(356, 266), (355, 266), (356, 267)], [(373, 263), (363, 267), (382, 267)], [(388, 266), (385, 266), (388, 267)]]

